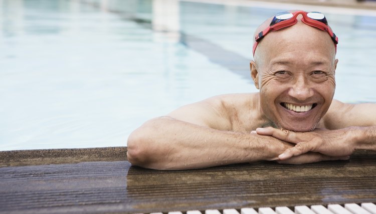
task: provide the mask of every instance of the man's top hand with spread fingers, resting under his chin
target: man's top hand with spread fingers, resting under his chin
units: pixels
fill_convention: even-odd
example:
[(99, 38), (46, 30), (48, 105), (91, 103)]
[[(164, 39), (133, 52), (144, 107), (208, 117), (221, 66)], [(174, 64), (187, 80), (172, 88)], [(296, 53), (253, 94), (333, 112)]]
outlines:
[(270, 135), (277, 139), (296, 144), (281, 153), (278, 156), (280, 160), (286, 160), (308, 151), (319, 152), (339, 159), (348, 159), (348, 156), (355, 148), (353, 141), (350, 140), (351, 137), (349, 137), (351, 135), (349, 128), (293, 132), (286, 129), (266, 127), (257, 128), (256, 132), (257, 134)]

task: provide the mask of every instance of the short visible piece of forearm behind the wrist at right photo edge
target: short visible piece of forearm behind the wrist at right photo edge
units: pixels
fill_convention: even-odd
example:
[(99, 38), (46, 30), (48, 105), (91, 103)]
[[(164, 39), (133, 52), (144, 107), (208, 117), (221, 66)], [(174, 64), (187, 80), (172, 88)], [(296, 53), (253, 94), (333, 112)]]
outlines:
[(376, 151), (376, 125), (351, 127), (355, 149)]

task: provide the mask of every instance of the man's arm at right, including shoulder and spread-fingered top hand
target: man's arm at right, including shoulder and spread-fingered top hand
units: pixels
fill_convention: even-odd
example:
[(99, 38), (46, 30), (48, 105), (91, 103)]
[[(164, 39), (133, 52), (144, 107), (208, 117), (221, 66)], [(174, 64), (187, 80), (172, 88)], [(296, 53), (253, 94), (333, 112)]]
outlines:
[(296, 143), (279, 158), (286, 160), (308, 151), (329, 156), (348, 156), (355, 149), (376, 151), (376, 104), (345, 104), (333, 100), (324, 117), (325, 127), (296, 133), (283, 129), (259, 128), (257, 133)]

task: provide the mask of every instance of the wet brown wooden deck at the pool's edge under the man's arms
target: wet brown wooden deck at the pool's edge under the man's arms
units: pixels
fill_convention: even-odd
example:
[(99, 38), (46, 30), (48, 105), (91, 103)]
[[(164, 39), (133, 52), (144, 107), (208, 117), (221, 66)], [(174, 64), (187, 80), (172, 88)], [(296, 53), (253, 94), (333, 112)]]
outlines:
[(149, 213), (376, 202), (376, 152), (303, 165), (144, 169), (125, 147), (0, 152), (0, 213)]

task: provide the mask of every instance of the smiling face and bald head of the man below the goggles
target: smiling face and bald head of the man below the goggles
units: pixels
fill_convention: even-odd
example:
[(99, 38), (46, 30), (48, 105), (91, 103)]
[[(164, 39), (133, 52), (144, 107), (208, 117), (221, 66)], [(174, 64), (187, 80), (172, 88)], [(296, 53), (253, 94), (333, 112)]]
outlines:
[(335, 89), (335, 49), (327, 32), (297, 24), (265, 36), (251, 62), (264, 115), (293, 131), (313, 130)]

